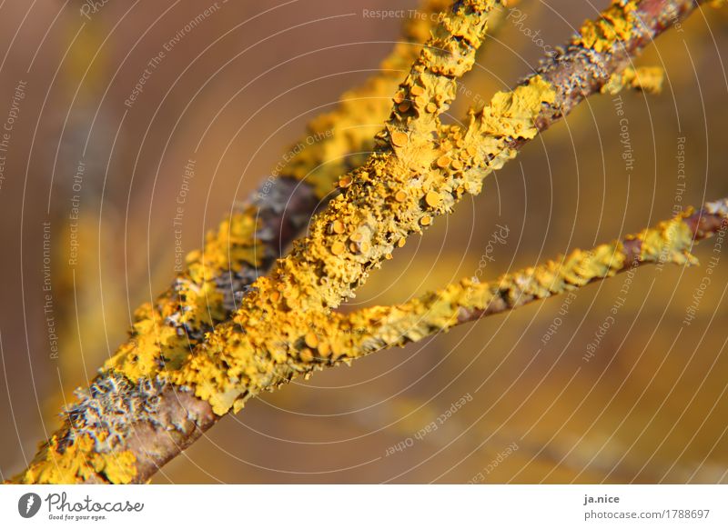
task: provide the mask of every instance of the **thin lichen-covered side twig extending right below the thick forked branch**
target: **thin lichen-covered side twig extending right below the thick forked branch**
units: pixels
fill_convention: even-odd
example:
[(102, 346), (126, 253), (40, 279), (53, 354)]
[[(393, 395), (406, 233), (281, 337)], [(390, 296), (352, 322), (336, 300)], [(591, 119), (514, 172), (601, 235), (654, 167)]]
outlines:
[[(728, 198), (688, 210), (670, 221), (587, 252), (576, 250), (556, 261), (504, 274), (491, 283), (464, 279), (406, 304), (379, 306), (339, 316), (336, 338), (354, 359), (506, 311), (565, 294), (638, 266), (693, 265), (693, 244), (728, 228)], [(332, 337), (331, 339), (334, 339)], [(350, 353), (349, 353), (350, 352)]]

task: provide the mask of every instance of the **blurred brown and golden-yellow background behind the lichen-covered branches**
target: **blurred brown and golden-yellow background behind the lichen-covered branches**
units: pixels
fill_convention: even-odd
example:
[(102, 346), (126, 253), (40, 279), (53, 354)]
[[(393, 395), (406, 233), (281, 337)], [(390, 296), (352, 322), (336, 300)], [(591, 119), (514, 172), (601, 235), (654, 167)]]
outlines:
[[(528, 74), (542, 56), (538, 38), (565, 42), (606, 3), (522, 1), (527, 16), (489, 38), (463, 80), (470, 97), (451, 119)], [(364, 10), (408, 10), (417, 0), (108, 1), (95, 13), (91, 4), (0, 3), (0, 122), (18, 85), (24, 94), (15, 97), (0, 186), (2, 478), (56, 428), (59, 409), (113, 354), (134, 308), (172, 279), (187, 161), (196, 160), (196, 176), (186, 252), (399, 39), (401, 19)], [(213, 5), (126, 106), (148, 62)], [(704, 8), (637, 62), (662, 66), (666, 81), (662, 95), (621, 95), (632, 171), (612, 96), (592, 97), (490, 176), (482, 195), (413, 237), (349, 305), (397, 303), (463, 276), (496, 278), (728, 195), (727, 22), (724, 10)], [(379, 126), (370, 124), (372, 135)], [(154, 483), (728, 482), (728, 256), (714, 248), (696, 248), (702, 267), (645, 267), (568, 303), (532, 304), (267, 394)]]

